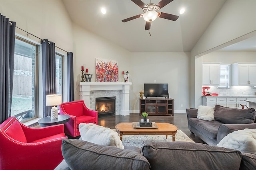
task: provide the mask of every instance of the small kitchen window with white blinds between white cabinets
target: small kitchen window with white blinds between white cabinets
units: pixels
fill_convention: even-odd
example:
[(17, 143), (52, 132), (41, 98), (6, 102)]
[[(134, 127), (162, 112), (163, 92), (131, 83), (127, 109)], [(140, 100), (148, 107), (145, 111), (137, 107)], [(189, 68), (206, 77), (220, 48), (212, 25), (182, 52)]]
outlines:
[(220, 88), (229, 88), (229, 64), (220, 64)]

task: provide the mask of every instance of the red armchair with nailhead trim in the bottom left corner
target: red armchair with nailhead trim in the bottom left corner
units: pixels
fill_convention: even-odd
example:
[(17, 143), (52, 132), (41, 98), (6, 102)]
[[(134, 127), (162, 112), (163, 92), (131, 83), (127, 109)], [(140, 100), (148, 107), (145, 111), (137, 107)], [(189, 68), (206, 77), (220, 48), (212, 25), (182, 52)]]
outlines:
[(63, 160), (64, 125), (33, 128), (9, 117), (0, 125), (1, 170), (52, 170)]

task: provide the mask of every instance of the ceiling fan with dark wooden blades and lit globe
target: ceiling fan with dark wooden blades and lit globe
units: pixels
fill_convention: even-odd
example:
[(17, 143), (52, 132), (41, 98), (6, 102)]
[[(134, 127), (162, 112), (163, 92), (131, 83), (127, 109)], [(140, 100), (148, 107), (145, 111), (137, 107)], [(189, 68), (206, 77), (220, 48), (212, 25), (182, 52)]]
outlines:
[(160, 2), (158, 2), (158, 4), (152, 4), (150, 0), (150, 3), (147, 5), (144, 4), (144, 2), (142, 2), (141, 0), (131, 0), (131, 1), (134, 2), (136, 5), (138, 5), (140, 8), (142, 8), (144, 14), (126, 18), (122, 20), (122, 22), (127, 22), (130, 20), (134, 20), (136, 18), (143, 17), (144, 20), (146, 21), (145, 30), (149, 30), (151, 26), (151, 22), (156, 20), (157, 17), (164, 18), (167, 20), (172, 20), (172, 21), (176, 21), (179, 18), (179, 16), (176, 16), (176, 15), (166, 14), (164, 12), (157, 12), (158, 10), (160, 10), (161, 8), (163, 8), (173, 0), (161, 0)]

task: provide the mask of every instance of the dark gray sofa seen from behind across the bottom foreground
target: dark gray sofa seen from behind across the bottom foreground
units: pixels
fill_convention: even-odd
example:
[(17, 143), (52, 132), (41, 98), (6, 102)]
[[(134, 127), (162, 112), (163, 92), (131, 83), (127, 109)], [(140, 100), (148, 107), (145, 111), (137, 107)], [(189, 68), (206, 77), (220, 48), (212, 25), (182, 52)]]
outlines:
[(191, 142), (155, 142), (142, 148), (62, 140), (62, 161), (55, 170), (252, 170), (256, 153)]

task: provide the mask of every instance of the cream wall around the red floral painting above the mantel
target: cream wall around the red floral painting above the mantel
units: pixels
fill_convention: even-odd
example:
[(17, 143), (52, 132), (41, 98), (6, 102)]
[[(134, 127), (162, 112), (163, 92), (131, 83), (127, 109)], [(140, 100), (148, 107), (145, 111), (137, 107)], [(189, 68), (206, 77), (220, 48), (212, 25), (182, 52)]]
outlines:
[(119, 82), (122, 82), (122, 71), (130, 70), (131, 53), (118, 45), (110, 43), (77, 25), (74, 30), (74, 96), (80, 100), (79, 82), (81, 78), (81, 66), (88, 68), (88, 73), (93, 74), (92, 82), (96, 82), (96, 59), (110, 59), (118, 61)]

